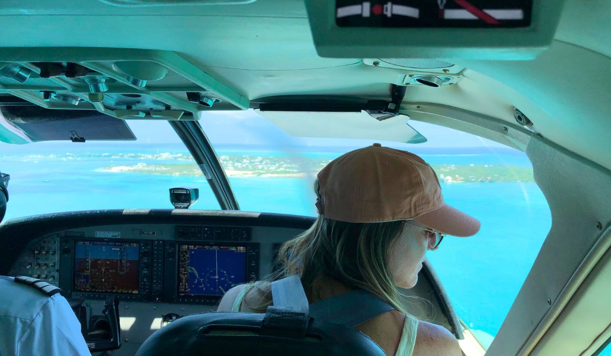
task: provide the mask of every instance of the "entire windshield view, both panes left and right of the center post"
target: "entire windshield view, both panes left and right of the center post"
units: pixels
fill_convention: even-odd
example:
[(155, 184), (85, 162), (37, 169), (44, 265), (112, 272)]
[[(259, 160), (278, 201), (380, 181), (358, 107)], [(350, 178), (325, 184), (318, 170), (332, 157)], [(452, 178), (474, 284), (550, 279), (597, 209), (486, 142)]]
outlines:
[[(7, 219), (172, 208), (172, 187), (197, 187), (199, 201), (192, 208), (219, 209), (167, 122), (128, 123), (136, 141), (0, 143), (0, 172), (11, 175)], [(343, 153), (377, 141), (293, 137), (254, 111), (209, 112), (200, 124), (246, 211), (316, 216), (316, 173)], [(476, 236), (450, 236), (428, 258), (459, 318), (487, 347), (551, 227), (549, 207), (523, 152), (436, 125), (409, 124), (428, 142), (382, 145), (422, 156), (436, 170), (446, 202), (481, 221)]]

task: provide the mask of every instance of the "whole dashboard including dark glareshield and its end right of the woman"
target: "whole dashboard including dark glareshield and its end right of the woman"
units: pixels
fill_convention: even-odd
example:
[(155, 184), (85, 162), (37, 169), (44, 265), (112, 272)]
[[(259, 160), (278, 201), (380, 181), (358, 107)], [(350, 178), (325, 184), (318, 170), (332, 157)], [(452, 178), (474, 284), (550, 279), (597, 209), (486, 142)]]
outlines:
[[(148, 209), (12, 220), (0, 226), (0, 274), (45, 280), (59, 286), (67, 299), (83, 299), (92, 335), (104, 331), (104, 300), (117, 296), (122, 344), (112, 354), (133, 355), (169, 322), (214, 311), (232, 286), (265, 278), (278, 267), (280, 244), (313, 221), (279, 214)], [(405, 291), (419, 297), (409, 302), (414, 314), (461, 336), (434, 272), (426, 264), (420, 273), (418, 285)]]

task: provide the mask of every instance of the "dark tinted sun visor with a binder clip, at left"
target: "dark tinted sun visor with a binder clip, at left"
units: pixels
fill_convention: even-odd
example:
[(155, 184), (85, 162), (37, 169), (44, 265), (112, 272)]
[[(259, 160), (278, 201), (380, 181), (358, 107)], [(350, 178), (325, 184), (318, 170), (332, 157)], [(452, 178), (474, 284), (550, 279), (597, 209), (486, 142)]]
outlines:
[[(135, 140), (125, 121), (93, 110), (0, 106), (0, 139), (9, 143), (72, 140)], [(10, 136), (9, 136), (10, 134)], [(16, 140), (19, 138), (20, 140)]]

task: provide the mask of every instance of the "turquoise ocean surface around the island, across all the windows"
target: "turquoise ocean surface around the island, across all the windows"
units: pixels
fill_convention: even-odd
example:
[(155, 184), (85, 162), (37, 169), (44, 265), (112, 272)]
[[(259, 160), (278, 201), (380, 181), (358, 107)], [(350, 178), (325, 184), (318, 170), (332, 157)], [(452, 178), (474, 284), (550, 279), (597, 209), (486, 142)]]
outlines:
[[(76, 147), (76, 148), (75, 148)], [(219, 148), (219, 156), (334, 159), (337, 148), (291, 151)], [(524, 153), (506, 148), (413, 150), (430, 164), (530, 167)], [(134, 153), (132, 156), (121, 153)], [(10, 200), (5, 219), (84, 209), (172, 208), (170, 187), (199, 187), (196, 209), (219, 209), (203, 175), (153, 175), (105, 172), (117, 165), (194, 164), (180, 145), (0, 146), (0, 171), (9, 173)], [(305, 177), (230, 177), (245, 211), (313, 216), (313, 175)], [(442, 183), (448, 204), (481, 221), (472, 238), (444, 239), (428, 253), (458, 316), (487, 345), (518, 294), (551, 227), (546, 200), (535, 183)]]

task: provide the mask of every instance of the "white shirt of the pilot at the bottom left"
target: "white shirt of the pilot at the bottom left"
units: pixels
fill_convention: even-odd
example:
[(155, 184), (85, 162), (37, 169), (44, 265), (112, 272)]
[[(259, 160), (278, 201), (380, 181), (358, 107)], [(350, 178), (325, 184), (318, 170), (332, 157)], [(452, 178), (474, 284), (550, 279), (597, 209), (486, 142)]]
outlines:
[(81, 324), (59, 293), (0, 276), (0, 356), (90, 356)]

